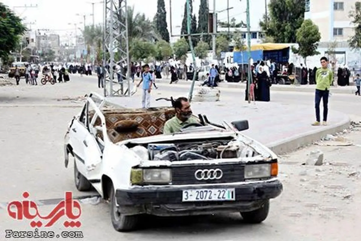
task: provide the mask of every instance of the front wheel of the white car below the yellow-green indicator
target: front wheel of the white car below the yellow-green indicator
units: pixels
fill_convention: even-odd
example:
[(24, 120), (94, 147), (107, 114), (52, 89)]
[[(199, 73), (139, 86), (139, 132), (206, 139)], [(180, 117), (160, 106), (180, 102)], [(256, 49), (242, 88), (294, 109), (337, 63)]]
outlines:
[(117, 207), (115, 191), (113, 184), (110, 188), (110, 216), (112, 218), (112, 224), (116, 231), (118, 232), (126, 232), (134, 230), (138, 225), (139, 216), (131, 215), (125, 216), (121, 214)]

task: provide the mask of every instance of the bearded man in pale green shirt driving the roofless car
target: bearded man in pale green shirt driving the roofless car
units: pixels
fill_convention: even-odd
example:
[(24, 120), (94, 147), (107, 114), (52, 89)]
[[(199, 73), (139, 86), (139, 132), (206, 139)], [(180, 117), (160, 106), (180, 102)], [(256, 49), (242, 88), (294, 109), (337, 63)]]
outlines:
[(191, 104), (186, 97), (179, 97), (176, 99), (174, 101), (174, 108), (177, 114), (165, 122), (163, 130), (164, 134), (179, 132), (188, 124), (199, 123), (199, 121), (192, 116)]

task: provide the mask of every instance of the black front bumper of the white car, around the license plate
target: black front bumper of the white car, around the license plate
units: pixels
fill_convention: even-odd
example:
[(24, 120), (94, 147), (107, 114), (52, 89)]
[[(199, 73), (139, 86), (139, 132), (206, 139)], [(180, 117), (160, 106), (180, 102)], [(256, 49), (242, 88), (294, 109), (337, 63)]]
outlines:
[[(183, 190), (197, 188), (235, 188), (235, 201), (182, 202)], [(117, 189), (116, 199), (119, 212), (125, 215), (183, 216), (256, 210), (266, 200), (278, 197), (282, 190), (282, 183), (276, 179), (240, 185), (152, 186), (130, 190)]]

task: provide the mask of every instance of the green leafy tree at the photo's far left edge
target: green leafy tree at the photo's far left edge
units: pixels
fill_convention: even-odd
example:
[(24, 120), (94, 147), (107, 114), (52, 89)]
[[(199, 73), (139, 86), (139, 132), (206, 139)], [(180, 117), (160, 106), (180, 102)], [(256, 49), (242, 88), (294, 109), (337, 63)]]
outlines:
[(7, 60), (27, 29), (21, 19), (3, 3), (0, 3), (0, 16), (0, 58)]

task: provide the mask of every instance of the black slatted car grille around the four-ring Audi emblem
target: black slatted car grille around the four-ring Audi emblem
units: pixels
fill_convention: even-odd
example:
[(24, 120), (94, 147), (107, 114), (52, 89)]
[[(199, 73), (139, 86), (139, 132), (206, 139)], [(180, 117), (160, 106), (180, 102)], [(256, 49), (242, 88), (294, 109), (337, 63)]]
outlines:
[[(195, 172), (203, 169), (221, 169), (223, 176), (220, 179), (214, 180), (197, 180)], [(191, 165), (172, 168), (172, 184), (173, 185), (187, 185), (187, 184), (216, 184), (225, 182), (240, 182), (244, 181), (244, 165), (240, 164), (226, 164), (226, 165)]]

